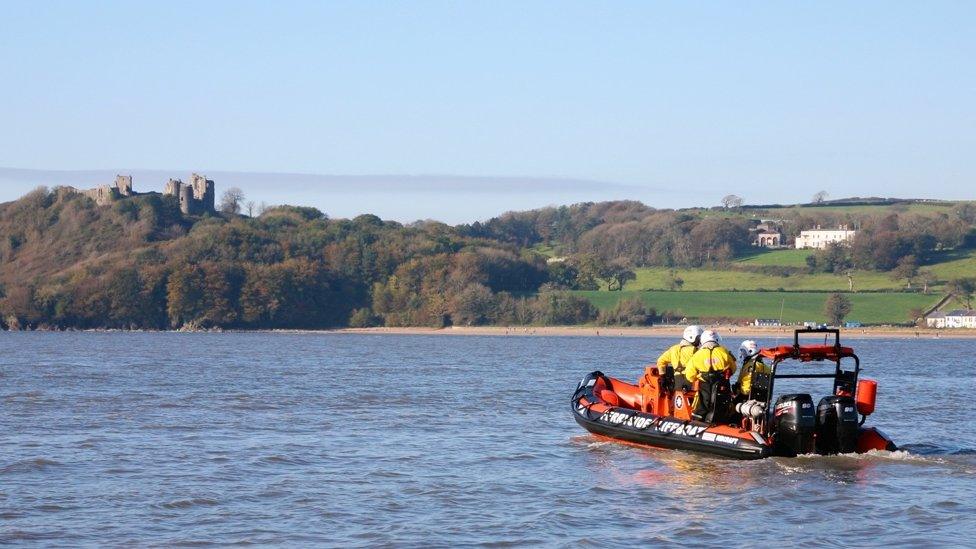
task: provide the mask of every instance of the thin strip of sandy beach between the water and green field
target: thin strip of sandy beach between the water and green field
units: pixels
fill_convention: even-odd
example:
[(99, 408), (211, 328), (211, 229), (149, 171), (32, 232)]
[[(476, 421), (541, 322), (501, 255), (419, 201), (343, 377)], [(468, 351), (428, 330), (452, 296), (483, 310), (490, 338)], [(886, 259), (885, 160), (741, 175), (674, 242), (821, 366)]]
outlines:
[[(768, 339), (793, 338), (792, 327), (759, 328), (754, 326), (712, 326), (723, 336), (755, 336)], [(607, 326), (477, 326), (451, 328), (344, 328), (330, 330), (339, 334), (375, 335), (438, 335), (438, 336), (508, 336), (508, 337), (680, 337), (683, 326), (653, 326), (648, 328), (622, 328)], [(934, 330), (927, 328), (867, 327), (841, 330), (842, 338), (865, 339), (976, 339), (976, 330)]]

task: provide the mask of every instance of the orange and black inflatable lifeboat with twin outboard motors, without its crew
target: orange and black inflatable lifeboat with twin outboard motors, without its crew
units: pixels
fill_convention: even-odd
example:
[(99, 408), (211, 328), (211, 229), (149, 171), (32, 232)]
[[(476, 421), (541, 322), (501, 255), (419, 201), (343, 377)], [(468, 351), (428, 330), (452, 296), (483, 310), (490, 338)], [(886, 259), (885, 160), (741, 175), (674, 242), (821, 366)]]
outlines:
[[(803, 346), (801, 334), (833, 335), (834, 342)], [(880, 430), (863, 426), (874, 411), (877, 383), (858, 379), (860, 360), (840, 345), (839, 330), (796, 330), (793, 345), (761, 354), (770, 361), (770, 372), (753, 374), (749, 395), (735, 401), (723, 401), (715, 392), (709, 423), (692, 418), (695, 391), (671, 388), (667, 374), (653, 365), (636, 385), (602, 372), (587, 375), (573, 393), (573, 417), (598, 435), (737, 459), (896, 449)], [(801, 371), (780, 373), (786, 361), (799, 363)], [(824, 372), (830, 363), (833, 371)], [(833, 390), (816, 406), (805, 393), (783, 394), (774, 402), (774, 381), (784, 378), (832, 379)]]

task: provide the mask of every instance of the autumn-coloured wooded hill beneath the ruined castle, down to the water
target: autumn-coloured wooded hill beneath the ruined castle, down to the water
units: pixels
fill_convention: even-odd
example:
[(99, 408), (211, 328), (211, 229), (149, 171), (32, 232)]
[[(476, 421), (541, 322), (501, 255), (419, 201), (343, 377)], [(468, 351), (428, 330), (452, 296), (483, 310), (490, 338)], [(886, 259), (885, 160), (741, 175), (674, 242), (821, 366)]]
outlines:
[[(558, 291), (542, 256), (440, 223), (313, 208), (184, 218), (145, 195), (99, 207), (67, 189), (0, 206), (9, 328), (316, 328), (647, 323)], [(596, 268), (596, 267), (594, 267)], [(597, 272), (575, 277), (593, 279)], [(552, 271), (552, 272), (551, 272)], [(541, 293), (539, 291), (541, 290)], [(643, 315), (643, 316), (641, 316)]]

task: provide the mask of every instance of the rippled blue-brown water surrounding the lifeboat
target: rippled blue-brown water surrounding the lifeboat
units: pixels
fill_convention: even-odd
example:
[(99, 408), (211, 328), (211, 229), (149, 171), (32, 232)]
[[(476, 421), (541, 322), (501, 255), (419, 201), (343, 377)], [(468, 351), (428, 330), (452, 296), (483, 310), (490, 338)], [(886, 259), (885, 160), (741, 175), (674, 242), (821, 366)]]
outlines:
[(761, 462), (576, 425), (583, 374), (635, 379), (668, 339), (0, 343), (0, 543), (976, 544), (972, 340), (851, 341), (904, 450)]

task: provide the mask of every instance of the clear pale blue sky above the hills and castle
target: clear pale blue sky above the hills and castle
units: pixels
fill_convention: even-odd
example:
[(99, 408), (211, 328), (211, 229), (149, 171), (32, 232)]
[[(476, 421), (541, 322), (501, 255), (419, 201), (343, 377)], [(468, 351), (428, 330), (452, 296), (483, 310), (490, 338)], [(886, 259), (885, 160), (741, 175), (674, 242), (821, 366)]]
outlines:
[(972, 2), (0, 0), (0, 168), (19, 169), (0, 200), (84, 170), (449, 222), (976, 198), (974, 20)]

